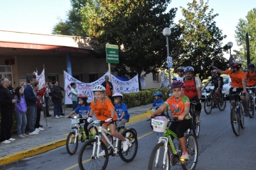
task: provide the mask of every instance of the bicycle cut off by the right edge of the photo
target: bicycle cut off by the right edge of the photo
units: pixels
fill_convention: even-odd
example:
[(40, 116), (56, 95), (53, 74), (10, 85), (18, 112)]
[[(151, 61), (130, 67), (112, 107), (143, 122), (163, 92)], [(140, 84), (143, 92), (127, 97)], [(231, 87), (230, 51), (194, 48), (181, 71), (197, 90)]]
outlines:
[(249, 96), (249, 98), (246, 100), (246, 102), (247, 102), (247, 107), (248, 107), (250, 118), (253, 118), (254, 112), (256, 110), (256, 107), (255, 107), (255, 88), (256, 88), (256, 86), (246, 87), (246, 89), (248, 91), (248, 96)]

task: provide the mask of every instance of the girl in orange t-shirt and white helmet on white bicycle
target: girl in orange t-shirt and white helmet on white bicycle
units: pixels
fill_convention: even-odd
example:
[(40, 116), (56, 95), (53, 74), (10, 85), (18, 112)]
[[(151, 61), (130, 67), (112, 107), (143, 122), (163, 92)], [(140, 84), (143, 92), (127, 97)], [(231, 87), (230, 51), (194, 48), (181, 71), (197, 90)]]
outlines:
[[(123, 150), (127, 151), (129, 147), (129, 140), (116, 132), (117, 115), (111, 100), (106, 96), (106, 89), (102, 85), (96, 85), (93, 87), (92, 91), (94, 93), (94, 98), (90, 104), (91, 111), (87, 121), (92, 121), (92, 114), (95, 112), (95, 116), (98, 120), (106, 121), (106, 123), (102, 124), (102, 128), (107, 129), (109, 125), (111, 135), (120, 139), (123, 144)], [(108, 143), (104, 137), (102, 137), (102, 142), (108, 147)], [(104, 155), (105, 151), (103, 150), (99, 156), (102, 157)]]

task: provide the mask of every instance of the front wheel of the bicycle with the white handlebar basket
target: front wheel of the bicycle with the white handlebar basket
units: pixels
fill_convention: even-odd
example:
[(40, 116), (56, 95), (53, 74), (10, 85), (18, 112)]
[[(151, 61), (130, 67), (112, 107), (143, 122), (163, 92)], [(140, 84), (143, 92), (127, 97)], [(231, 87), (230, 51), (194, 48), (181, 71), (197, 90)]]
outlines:
[(148, 170), (153, 169), (171, 169), (170, 152), (164, 155), (164, 143), (157, 143), (150, 154)]

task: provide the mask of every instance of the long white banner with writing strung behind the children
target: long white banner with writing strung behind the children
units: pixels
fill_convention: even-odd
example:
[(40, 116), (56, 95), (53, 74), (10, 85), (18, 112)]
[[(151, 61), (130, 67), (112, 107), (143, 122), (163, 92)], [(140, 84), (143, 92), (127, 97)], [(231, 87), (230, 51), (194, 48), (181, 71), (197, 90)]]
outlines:
[[(100, 79), (98, 79), (95, 82), (81, 82), (69, 75), (67, 72), (64, 72), (64, 86), (66, 89), (65, 94), (65, 104), (72, 104), (72, 95), (70, 94), (70, 83), (75, 82), (76, 88), (79, 93), (83, 93), (88, 97), (87, 102), (92, 102), (92, 99), (94, 97), (92, 88), (98, 84), (102, 84), (102, 82), (105, 81), (104, 77), (105, 75), (109, 75), (109, 72), (105, 73)], [(114, 93), (132, 93), (132, 92), (138, 92), (139, 91), (139, 82), (138, 82), (138, 75), (133, 77), (129, 81), (120, 81), (119, 79), (116, 79), (114, 75), (111, 74), (112, 84), (113, 84), (113, 91)]]

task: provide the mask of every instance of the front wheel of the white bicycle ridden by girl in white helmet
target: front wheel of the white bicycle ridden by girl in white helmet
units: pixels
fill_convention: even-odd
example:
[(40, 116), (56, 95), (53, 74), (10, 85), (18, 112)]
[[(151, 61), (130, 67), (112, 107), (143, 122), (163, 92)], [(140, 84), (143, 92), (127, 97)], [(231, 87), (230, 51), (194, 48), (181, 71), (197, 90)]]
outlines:
[[(97, 140), (98, 139), (90, 139), (82, 146), (79, 156), (78, 156), (78, 164), (80, 169), (106, 169), (108, 166), (108, 157), (106, 154), (103, 157), (97, 156)], [(89, 147), (90, 146), (90, 147)], [(93, 146), (93, 147), (92, 147)], [(102, 149), (103, 148), (103, 149)], [(105, 153), (108, 153), (108, 148), (102, 141), (100, 141), (100, 151), (104, 150)]]

